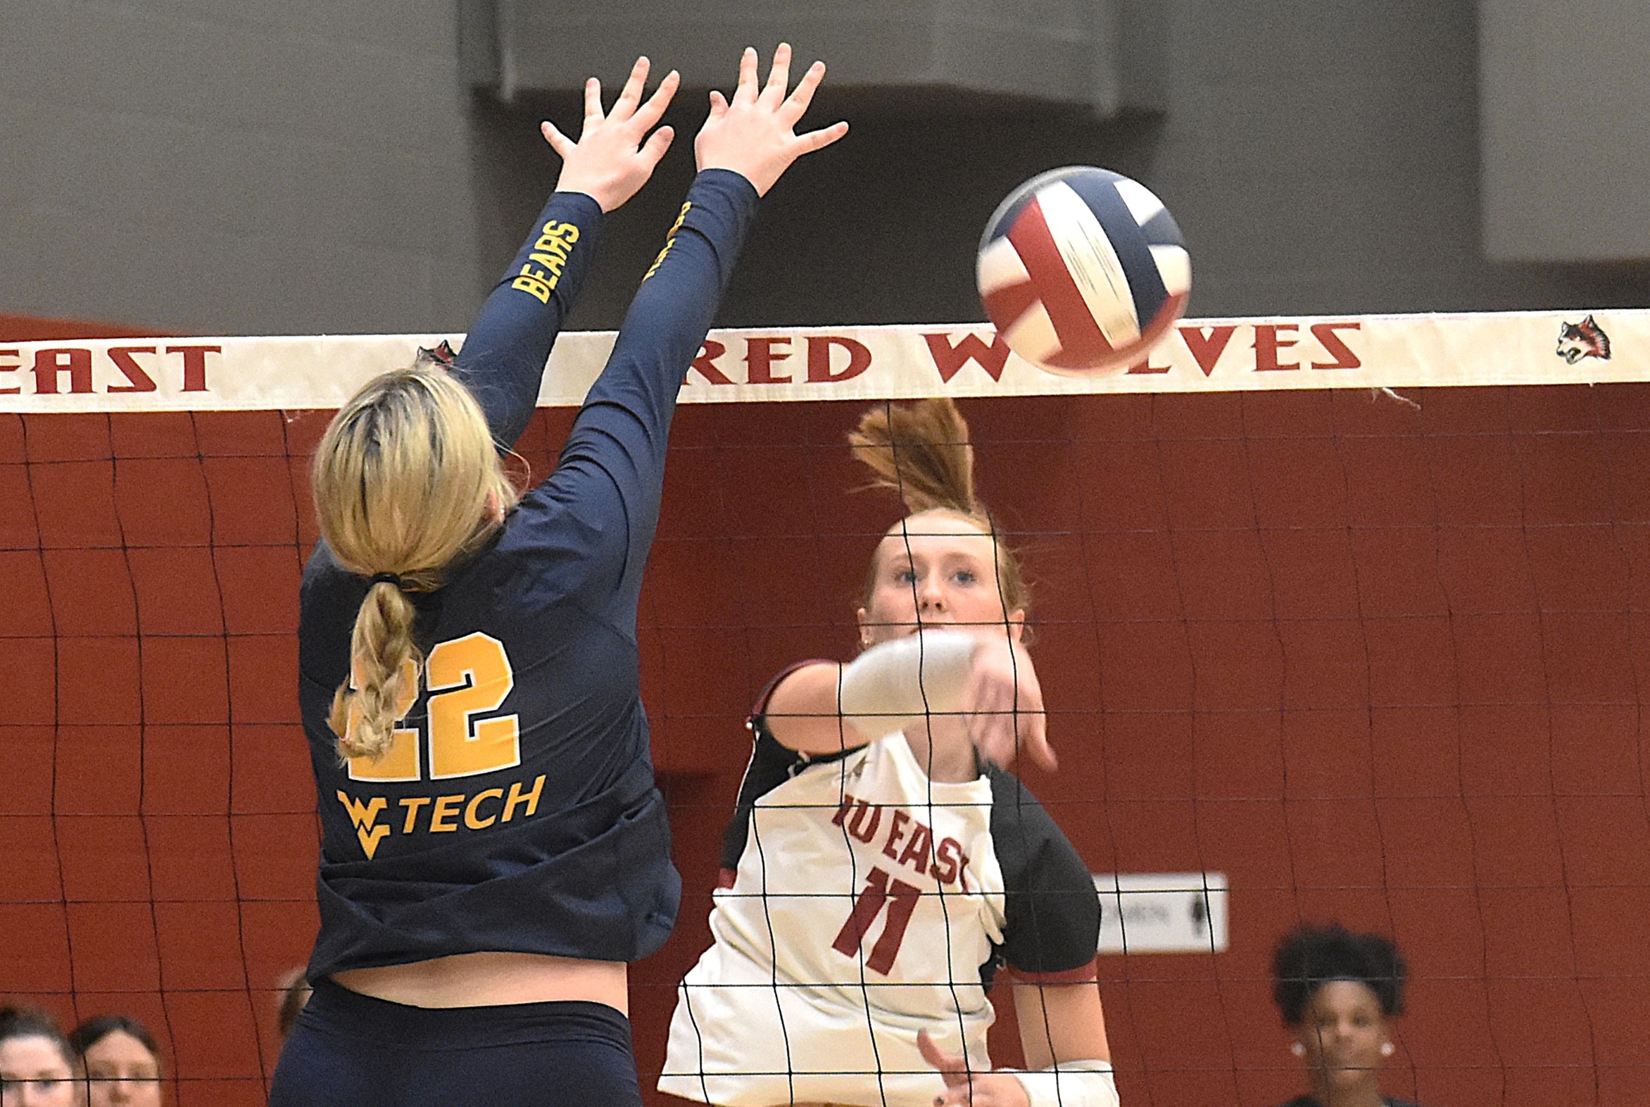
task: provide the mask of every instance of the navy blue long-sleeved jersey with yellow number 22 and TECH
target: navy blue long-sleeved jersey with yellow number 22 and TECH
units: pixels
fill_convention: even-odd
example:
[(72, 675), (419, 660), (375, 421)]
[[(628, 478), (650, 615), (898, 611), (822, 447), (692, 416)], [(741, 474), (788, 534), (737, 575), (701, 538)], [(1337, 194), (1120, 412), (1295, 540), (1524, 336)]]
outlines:
[[(310, 978), (480, 950), (635, 960), (675, 924), (680, 878), (653, 787), (635, 609), (676, 393), (756, 211), (700, 173), (554, 472), (444, 587), (411, 594), (424, 657), (394, 744), (338, 762), (327, 724), (368, 581), (325, 543), (304, 571), (299, 670), (322, 818)], [(500, 444), (538, 398), (601, 211), (551, 196), (455, 373)]]

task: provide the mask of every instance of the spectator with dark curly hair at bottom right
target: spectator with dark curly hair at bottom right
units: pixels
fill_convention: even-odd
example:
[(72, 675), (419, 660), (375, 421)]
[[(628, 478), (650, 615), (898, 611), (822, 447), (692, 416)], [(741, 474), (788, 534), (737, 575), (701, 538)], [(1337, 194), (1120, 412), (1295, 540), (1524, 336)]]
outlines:
[(1388, 1020), (1404, 1013), (1404, 959), (1378, 934), (1302, 926), (1272, 957), (1272, 998), (1305, 1061), (1312, 1092), (1285, 1107), (1416, 1107), (1381, 1095), (1393, 1056)]

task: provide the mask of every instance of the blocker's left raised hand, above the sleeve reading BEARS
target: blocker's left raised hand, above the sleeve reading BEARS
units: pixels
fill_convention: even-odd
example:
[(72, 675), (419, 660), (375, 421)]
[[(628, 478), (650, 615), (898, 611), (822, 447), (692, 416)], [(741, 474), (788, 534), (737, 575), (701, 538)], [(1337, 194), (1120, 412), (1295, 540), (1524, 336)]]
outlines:
[(653, 167), (665, 157), (675, 137), (670, 127), (653, 130), (653, 125), (670, 106), (670, 97), (676, 94), (680, 76), (675, 69), (667, 73), (644, 104), (647, 64), (647, 58), (635, 59), (624, 91), (606, 115), (602, 82), (596, 78), (584, 82), (584, 129), (578, 142), (556, 130), (556, 124), (549, 120), (540, 124), (544, 142), (561, 155), (556, 191), (581, 191), (596, 200), (602, 211), (612, 211), (653, 175)]

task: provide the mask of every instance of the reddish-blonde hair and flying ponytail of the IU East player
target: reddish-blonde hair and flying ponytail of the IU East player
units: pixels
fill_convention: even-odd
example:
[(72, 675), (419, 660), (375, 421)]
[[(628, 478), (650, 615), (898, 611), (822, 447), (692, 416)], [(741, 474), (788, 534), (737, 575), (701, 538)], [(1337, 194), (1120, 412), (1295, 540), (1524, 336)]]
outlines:
[[(1020, 559), (1003, 543), (990, 511), (974, 493), (974, 445), (969, 444), (969, 424), (957, 404), (950, 399), (879, 404), (860, 416), (860, 426), (848, 434), (848, 444), (855, 457), (871, 470), (871, 487), (899, 493), (908, 525), (912, 518), (940, 511), (967, 520), (982, 535), (990, 535), (1003, 612), (1030, 607), (1031, 591)], [(870, 607), (876, 591), (878, 561), (879, 553), (871, 556), (866, 572), (865, 607)]]

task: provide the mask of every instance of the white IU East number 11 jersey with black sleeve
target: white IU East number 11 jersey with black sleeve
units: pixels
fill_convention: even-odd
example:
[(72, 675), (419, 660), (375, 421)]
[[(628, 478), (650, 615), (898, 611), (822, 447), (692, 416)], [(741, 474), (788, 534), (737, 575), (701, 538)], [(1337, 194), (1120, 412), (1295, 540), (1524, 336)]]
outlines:
[(990, 1069), (1000, 960), (1092, 978), (1092, 879), (1018, 780), (929, 780), (901, 734), (810, 761), (752, 723), (714, 944), (678, 990), (660, 1091), (927, 1107), (944, 1082), (917, 1031)]

